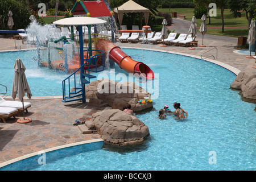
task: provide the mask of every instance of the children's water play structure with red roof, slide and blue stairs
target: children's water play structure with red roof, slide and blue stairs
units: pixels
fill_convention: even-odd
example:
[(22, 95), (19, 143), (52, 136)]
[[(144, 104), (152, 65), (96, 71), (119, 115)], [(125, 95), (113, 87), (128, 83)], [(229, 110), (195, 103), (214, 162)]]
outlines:
[[(110, 57), (110, 68), (116, 63), (135, 76), (154, 78), (154, 72), (147, 65), (131, 59), (112, 43), (115, 23), (113, 11), (105, 1), (77, 0), (70, 15), (70, 18), (57, 20), (51, 25), (40, 26), (36, 21), (31, 22), (22, 32), (28, 35), (31, 44), (36, 45), (37, 57), (33, 59), (40, 67), (71, 74), (63, 80), (63, 102), (86, 102), (85, 84), (90, 83), (90, 78), (96, 78), (91, 73), (105, 70), (106, 57)], [(102, 34), (104, 31), (110, 31), (111, 36)]]

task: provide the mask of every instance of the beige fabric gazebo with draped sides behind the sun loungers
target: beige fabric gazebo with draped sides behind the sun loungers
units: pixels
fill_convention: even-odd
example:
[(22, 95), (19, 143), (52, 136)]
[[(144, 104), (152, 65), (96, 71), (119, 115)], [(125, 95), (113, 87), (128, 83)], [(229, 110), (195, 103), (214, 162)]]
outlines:
[(126, 3), (124, 3), (123, 5), (121, 5), (119, 7), (116, 7), (114, 9), (114, 14), (115, 14), (115, 19), (117, 19), (117, 16), (118, 16), (120, 27), (121, 27), (122, 21), (123, 21), (123, 13), (140, 13), (141, 26), (142, 26), (143, 13), (144, 13), (144, 20), (147, 25), (150, 10), (147, 9), (146, 7), (143, 7), (143, 6), (135, 3), (132, 0), (127, 1)]

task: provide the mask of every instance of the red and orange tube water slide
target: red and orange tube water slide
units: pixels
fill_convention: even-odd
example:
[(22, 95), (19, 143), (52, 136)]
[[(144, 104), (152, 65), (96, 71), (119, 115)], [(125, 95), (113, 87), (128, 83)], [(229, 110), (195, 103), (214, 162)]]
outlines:
[(109, 59), (115, 61), (119, 68), (127, 73), (137, 73), (139, 76), (150, 80), (154, 78), (154, 72), (146, 64), (131, 59), (120, 47), (115, 46), (112, 42), (100, 39), (96, 44), (96, 49), (105, 51), (105, 54), (109, 55)]

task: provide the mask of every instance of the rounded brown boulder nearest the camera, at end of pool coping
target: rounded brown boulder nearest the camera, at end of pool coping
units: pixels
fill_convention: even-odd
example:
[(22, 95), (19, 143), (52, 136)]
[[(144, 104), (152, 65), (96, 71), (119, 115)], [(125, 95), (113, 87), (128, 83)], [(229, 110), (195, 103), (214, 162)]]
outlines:
[(142, 121), (119, 109), (94, 113), (92, 122), (101, 138), (110, 144), (121, 146), (141, 144), (149, 135), (148, 127)]

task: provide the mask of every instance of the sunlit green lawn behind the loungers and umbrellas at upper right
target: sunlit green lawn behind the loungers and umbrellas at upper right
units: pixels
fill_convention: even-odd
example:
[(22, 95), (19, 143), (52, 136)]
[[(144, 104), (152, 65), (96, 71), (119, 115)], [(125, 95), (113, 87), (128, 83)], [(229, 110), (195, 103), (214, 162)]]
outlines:
[[(191, 20), (193, 17), (193, 11), (194, 9), (188, 9), (188, 8), (179, 8), (179, 9), (158, 9), (158, 11), (164, 12), (164, 13), (170, 13), (172, 11), (176, 11), (177, 14), (185, 15), (186, 20)], [(239, 36), (248, 36), (249, 28), (235, 28), (235, 29), (225, 29), (224, 32), (221, 32), (221, 29), (211, 29), (210, 27), (222, 27), (221, 22), (221, 13), (220, 9), (217, 9), (217, 16), (210, 18), (210, 24), (209, 19), (207, 18), (207, 34), (213, 34), (213, 35), (224, 35), (224, 36), (233, 36), (233, 37), (239, 37)], [(196, 19), (197, 27), (200, 27), (201, 25), (201, 19)], [(226, 9), (224, 11), (224, 27), (242, 27), (247, 26), (248, 27), (248, 21), (246, 19), (245, 13), (242, 13), (241, 18), (234, 18), (232, 13), (230, 13), (229, 9)], [(198, 28), (199, 31), (199, 28)]]

